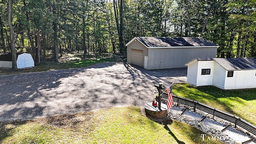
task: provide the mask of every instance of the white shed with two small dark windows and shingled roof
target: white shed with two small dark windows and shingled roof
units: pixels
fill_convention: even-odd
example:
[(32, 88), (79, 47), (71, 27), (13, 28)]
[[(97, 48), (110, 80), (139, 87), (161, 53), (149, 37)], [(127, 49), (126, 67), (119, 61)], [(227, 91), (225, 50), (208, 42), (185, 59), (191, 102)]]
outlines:
[(195, 58), (188, 66), (187, 83), (224, 90), (256, 88), (254, 58)]

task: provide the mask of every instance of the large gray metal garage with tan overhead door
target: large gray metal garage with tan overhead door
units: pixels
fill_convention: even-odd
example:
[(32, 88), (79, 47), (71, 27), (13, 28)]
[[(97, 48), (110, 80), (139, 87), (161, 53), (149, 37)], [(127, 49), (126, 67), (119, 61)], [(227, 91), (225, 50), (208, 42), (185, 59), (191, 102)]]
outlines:
[(127, 46), (127, 63), (146, 69), (181, 68), (194, 58), (216, 58), (217, 44), (204, 38), (135, 37)]

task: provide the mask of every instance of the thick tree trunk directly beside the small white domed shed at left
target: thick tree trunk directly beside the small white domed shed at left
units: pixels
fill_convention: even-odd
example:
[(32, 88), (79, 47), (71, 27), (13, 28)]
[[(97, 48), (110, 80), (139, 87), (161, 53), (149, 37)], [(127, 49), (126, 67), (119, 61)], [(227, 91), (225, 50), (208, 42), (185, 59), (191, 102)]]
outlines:
[(8, 24), (10, 28), (10, 43), (11, 43), (11, 52), (12, 52), (12, 68), (17, 69), (17, 57), (15, 49), (15, 39), (14, 39), (14, 27), (12, 25), (12, 0), (8, 0)]

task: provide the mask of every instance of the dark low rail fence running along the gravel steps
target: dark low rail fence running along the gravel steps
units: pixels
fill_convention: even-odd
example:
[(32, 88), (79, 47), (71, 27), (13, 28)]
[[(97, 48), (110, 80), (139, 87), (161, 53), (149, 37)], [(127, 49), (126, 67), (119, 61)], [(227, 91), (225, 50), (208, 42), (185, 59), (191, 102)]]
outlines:
[[(166, 92), (162, 93), (162, 98), (168, 99), (168, 95)], [(243, 120), (242, 118), (239, 118), (238, 116), (234, 116), (233, 114), (223, 112), (222, 110), (218, 110), (216, 108), (213, 108), (213, 107), (203, 104), (201, 102), (198, 102), (195, 100), (190, 100), (188, 98), (182, 98), (182, 97), (179, 97), (176, 95), (172, 95), (172, 100), (174, 102), (193, 107), (194, 112), (196, 111), (196, 109), (202, 110), (203, 112), (212, 114), (213, 118), (214, 118), (214, 116), (217, 116), (219, 118), (227, 120), (228, 122), (232, 122), (235, 124), (235, 127), (240, 126), (241, 128), (244, 128), (245, 130), (247, 130), (248, 132), (251, 132), (252, 134), (256, 135), (256, 126)]]

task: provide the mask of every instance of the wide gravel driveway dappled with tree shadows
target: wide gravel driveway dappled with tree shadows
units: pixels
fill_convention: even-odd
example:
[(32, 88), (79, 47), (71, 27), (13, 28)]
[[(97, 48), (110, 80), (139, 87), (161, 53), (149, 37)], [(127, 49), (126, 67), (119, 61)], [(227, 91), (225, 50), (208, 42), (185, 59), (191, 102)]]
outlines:
[(0, 121), (118, 106), (143, 106), (154, 84), (186, 82), (187, 68), (145, 70), (125, 63), (0, 76)]

